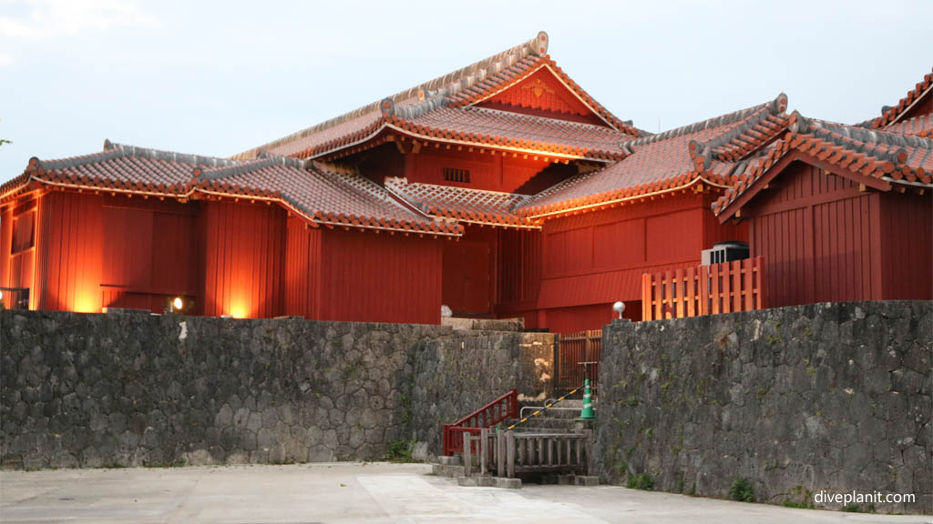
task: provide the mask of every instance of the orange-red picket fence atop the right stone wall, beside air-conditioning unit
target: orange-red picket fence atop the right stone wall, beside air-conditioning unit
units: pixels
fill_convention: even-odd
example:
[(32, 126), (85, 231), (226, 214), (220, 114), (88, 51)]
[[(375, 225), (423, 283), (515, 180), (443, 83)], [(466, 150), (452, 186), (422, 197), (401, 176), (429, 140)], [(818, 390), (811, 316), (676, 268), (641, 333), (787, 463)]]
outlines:
[(642, 320), (716, 315), (767, 307), (764, 258), (642, 276)]

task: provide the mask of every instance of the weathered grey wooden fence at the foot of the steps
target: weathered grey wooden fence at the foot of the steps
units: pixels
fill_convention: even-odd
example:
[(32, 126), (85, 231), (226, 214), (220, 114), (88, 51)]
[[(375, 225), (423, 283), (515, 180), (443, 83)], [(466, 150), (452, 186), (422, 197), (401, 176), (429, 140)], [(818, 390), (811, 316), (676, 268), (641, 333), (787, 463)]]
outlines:
[[(466, 476), (472, 476), (476, 462), (479, 462), (480, 475), (490, 472), (509, 478), (522, 473), (589, 475), (592, 432), (493, 433), (482, 429), (479, 435), (464, 434), (463, 449)], [(479, 456), (474, 458), (474, 453)]]

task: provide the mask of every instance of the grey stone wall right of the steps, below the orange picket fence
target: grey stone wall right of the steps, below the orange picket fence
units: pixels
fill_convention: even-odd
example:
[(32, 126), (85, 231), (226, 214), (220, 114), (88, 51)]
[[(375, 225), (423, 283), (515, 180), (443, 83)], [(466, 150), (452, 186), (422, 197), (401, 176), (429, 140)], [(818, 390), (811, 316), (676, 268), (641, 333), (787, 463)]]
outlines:
[(602, 358), (592, 465), (612, 482), (727, 497), (745, 477), (759, 502), (879, 490), (917, 502), (875, 511), (933, 511), (933, 302), (616, 321)]

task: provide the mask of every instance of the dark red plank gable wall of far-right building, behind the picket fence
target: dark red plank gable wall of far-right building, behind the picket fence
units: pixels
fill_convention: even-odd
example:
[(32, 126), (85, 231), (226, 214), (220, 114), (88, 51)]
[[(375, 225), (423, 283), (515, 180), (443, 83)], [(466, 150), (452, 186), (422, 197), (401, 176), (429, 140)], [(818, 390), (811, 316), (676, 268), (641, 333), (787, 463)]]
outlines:
[(881, 299), (879, 195), (803, 162), (772, 186), (749, 207), (769, 306)]

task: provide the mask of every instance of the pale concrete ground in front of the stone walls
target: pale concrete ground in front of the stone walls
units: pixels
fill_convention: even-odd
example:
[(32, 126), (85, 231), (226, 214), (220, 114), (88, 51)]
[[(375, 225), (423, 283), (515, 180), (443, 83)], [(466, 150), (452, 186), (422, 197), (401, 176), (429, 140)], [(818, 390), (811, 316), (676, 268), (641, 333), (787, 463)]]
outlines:
[(425, 464), (0, 472), (2, 522), (933, 522), (615, 486), (460, 488)]

